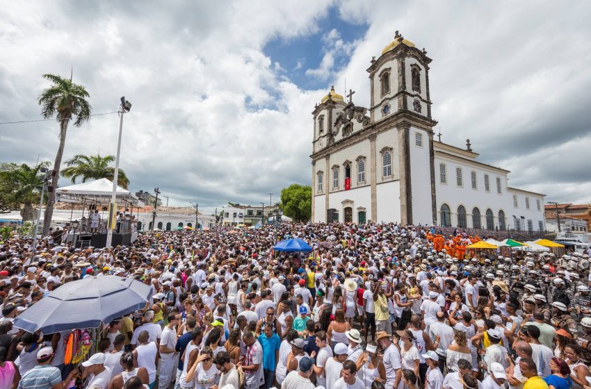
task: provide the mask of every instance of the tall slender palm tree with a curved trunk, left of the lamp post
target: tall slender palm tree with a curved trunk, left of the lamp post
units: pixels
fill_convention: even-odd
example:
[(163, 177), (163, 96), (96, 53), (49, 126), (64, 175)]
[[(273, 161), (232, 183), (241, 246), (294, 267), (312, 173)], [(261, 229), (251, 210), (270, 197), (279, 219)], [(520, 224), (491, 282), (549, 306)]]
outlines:
[[(39, 97), (39, 105), (41, 106), (41, 115), (44, 119), (56, 117), (60, 124), (60, 146), (56, 154), (54, 162), (54, 170), (56, 174), (51, 179), (51, 186), (55, 189), (58, 187), (58, 179), (60, 172), (60, 165), (62, 163), (63, 150), (65, 147), (65, 135), (67, 131), (67, 124), (76, 116), (74, 126), (79, 127), (84, 122), (90, 119), (92, 107), (86, 99), (90, 96), (86, 92), (83, 85), (72, 83), (72, 76), (70, 79), (57, 76), (56, 74), (43, 74), (43, 78), (51, 81), (51, 86), (41, 93)], [(51, 217), (54, 215), (54, 203), (56, 202), (56, 192), (51, 190), (49, 198), (47, 199), (47, 208), (45, 208), (45, 215), (43, 221), (42, 235), (49, 233), (49, 224), (51, 224)]]

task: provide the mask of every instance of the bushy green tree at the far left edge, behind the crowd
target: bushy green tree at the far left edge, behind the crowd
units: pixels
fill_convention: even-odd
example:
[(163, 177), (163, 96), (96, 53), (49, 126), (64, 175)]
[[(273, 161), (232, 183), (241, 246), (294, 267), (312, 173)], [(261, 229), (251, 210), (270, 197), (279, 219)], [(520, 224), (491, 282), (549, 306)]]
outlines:
[(33, 167), (26, 163), (12, 164), (0, 172), (2, 184), (10, 188), (10, 206), (11, 208), (22, 206), (21, 215), (24, 221), (35, 219), (33, 204), (40, 200), (43, 186), (42, 167), (49, 167), (49, 162), (42, 162)]

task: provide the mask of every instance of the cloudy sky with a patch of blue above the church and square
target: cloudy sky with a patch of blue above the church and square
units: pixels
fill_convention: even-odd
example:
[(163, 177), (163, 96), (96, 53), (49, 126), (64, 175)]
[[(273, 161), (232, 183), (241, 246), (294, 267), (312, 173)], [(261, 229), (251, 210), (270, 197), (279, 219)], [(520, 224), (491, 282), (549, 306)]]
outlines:
[[(314, 104), (335, 85), (369, 105), (365, 69), (399, 30), (433, 59), (442, 140), (470, 138), (510, 185), (591, 201), (587, 1), (26, 1), (0, 8), (0, 122), (40, 119), (41, 74), (126, 115), (131, 190), (170, 204), (274, 200), (311, 180)], [(65, 158), (115, 154), (117, 115), (67, 133)], [(0, 161), (55, 158), (56, 122), (0, 125)], [(61, 185), (68, 181), (61, 181)]]

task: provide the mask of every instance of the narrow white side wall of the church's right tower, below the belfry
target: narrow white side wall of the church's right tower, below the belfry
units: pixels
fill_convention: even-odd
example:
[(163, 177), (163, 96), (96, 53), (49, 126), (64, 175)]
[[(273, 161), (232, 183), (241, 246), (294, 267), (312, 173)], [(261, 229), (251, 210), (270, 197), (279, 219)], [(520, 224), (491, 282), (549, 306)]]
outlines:
[[(416, 135), (420, 134), (417, 142)], [(410, 185), (412, 191), (412, 223), (432, 224), (431, 169), (429, 160), (429, 135), (426, 131), (410, 129)], [(417, 143), (420, 143), (418, 145)]]

